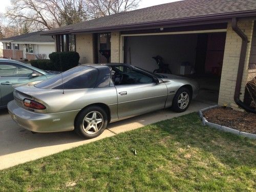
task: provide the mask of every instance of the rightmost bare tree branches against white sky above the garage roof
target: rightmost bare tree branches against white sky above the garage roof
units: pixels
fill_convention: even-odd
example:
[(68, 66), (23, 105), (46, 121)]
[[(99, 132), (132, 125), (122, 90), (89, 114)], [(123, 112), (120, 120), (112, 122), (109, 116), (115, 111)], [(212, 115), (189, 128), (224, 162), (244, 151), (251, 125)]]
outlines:
[(88, 15), (98, 18), (106, 15), (131, 11), (138, 7), (141, 0), (88, 0)]

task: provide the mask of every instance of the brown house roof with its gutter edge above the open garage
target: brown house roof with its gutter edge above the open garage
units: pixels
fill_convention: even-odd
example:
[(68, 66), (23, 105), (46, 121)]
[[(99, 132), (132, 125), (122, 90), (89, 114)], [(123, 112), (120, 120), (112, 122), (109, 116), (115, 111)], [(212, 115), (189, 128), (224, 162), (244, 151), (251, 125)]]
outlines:
[(63, 34), (118, 30), (157, 24), (175, 24), (193, 20), (256, 16), (255, 0), (184, 0), (117, 13), (78, 24), (52, 29), (42, 34)]

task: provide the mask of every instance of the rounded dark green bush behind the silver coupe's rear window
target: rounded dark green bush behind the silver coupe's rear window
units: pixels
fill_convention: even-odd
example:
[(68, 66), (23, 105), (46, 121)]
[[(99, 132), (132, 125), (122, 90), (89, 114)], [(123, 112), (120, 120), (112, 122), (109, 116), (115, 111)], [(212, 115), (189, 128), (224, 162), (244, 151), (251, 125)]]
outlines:
[[(67, 71), (78, 66), (79, 54), (77, 52), (53, 52), (49, 58), (54, 63), (56, 71)], [(61, 65), (60, 65), (61, 62)]]

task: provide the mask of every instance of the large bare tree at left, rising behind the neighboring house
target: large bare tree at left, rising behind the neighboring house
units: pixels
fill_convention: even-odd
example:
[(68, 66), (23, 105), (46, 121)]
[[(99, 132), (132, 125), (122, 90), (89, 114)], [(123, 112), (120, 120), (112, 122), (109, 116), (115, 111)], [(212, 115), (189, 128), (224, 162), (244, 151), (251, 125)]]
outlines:
[(53, 29), (86, 19), (86, 0), (12, 0), (10, 22), (32, 22), (35, 29)]

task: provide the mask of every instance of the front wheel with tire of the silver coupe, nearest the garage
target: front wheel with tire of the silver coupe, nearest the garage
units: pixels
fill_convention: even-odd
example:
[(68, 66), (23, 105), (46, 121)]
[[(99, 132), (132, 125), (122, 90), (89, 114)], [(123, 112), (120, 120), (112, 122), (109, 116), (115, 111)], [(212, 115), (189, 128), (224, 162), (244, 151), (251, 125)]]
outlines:
[(191, 101), (191, 93), (187, 88), (180, 88), (173, 99), (172, 109), (176, 112), (187, 110)]

